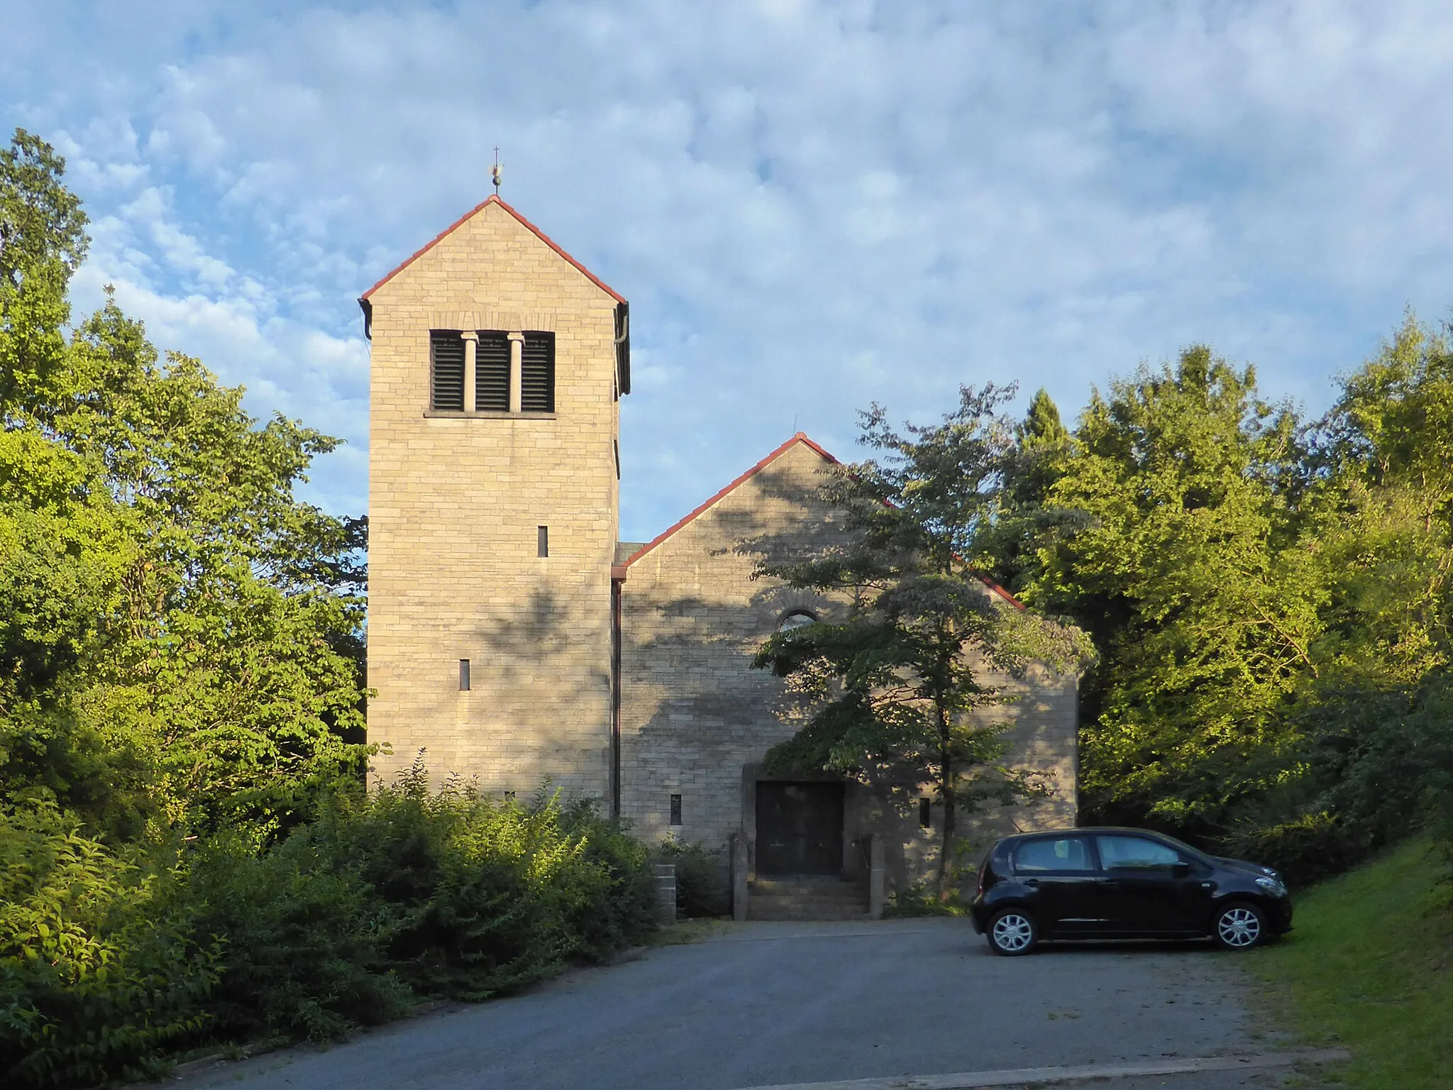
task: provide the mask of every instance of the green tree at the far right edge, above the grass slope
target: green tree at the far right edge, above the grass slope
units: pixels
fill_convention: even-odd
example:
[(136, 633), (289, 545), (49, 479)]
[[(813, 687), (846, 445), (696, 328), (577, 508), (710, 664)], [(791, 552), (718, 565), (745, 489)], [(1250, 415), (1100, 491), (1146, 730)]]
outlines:
[(1343, 378), (1312, 435), (1298, 548), (1321, 631), (1287, 711), (1279, 780), (1248, 799), (1238, 850), (1335, 871), (1453, 814), (1453, 363), (1409, 315)]

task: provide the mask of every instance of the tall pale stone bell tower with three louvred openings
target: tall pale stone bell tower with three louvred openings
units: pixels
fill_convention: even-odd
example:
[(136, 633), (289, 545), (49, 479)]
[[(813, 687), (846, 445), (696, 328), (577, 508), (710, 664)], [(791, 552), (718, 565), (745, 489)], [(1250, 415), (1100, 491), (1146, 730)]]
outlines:
[(371, 782), (606, 798), (626, 301), (491, 196), (359, 305)]

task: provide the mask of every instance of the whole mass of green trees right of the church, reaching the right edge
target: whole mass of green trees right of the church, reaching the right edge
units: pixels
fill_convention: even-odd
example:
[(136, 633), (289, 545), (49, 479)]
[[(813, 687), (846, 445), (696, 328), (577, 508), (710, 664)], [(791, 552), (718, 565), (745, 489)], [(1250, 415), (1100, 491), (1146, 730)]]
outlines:
[(1446, 805), (1450, 407), (1447, 344), (1411, 318), (1315, 426), (1200, 347), (1068, 436), (1036, 398), (985, 551), (1094, 637), (1085, 817), (1306, 881)]

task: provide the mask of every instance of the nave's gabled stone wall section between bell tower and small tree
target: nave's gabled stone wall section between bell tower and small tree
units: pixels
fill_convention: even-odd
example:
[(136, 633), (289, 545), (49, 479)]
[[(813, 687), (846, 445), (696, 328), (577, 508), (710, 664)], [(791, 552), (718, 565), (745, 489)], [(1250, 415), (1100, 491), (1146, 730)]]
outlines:
[[(811, 548), (834, 530), (815, 497), (827, 464), (806, 443), (776, 461), (626, 568), (622, 587), (622, 814), (647, 840), (725, 844), (742, 827), (742, 766), (792, 737), (783, 686), (751, 657), (783, 613), (830, 603), (753, 581), (747, 538)], [(681, 795), (671, 828), (670, 796)]]

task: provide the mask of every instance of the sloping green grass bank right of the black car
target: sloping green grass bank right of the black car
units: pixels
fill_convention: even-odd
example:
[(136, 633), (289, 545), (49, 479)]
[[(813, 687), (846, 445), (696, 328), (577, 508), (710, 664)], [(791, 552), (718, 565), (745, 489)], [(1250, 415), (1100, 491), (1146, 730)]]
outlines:
[(1427, 841), (1298, 898), (1296, 930), (1257, 969), (1298, 1028), (1341, 1043), (1359, 1090), (1453, 1087), (1453, 888)]

